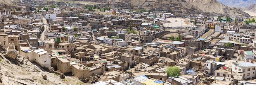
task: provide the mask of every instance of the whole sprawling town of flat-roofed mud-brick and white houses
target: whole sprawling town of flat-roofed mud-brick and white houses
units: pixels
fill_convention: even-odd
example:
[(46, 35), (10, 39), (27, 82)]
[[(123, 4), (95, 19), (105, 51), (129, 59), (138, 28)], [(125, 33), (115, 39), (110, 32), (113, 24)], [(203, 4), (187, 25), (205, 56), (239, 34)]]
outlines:
[[(169, 12), (138, 12), (27, 1), (17, 2), (22, 8), (0, 6), (0, 42), (6, 48), (13, 42), (24, 58), (50, 71), (97, 76), (92, 85), (256, 84), (256, 24), (245, 25), (244, 17), (181, 15), (176, 4), (155, 9)], [(168, 17), (194, 24), (170, 29)], [(170, 76), (170, 66), (180, 73)]]

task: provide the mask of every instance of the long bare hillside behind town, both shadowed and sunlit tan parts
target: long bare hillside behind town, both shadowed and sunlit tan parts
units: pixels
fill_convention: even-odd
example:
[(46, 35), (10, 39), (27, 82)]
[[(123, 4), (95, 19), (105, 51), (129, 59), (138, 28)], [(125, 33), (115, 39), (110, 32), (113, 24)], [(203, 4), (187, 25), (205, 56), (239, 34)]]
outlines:
[[(219, 3), (216, 0), (115, 0), (116, 3), (130, 3), (133, 7), (141, 6), (143, 8), (156, 8), (170, 9), (168, 6), (179, 7), (185, 14), (195, 14), (197, 12), (210, 12), (226, 15), (249, 16), (246, 12), (241, 11), (239, 8), (228, 7)], [(148, 5), (150, 3), (150, 5)], [(166, 7), (162, 6), (166, 5)]]

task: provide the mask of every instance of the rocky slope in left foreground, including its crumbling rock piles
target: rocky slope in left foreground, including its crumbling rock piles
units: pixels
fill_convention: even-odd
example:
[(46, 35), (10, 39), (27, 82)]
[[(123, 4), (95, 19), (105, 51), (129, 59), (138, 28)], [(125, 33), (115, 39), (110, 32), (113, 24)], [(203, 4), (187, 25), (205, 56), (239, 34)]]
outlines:
[[(47, 78), (43, 78), (42, 74)], [(65, 79), (61, 79), (59, 75), (47, 72), (39, 65), (31, 63), (18, 51), (7, 51), (0, 42), (0, 85), (73, 85), (74, 83), (85, 84), (75, 76), (65, 76)]]

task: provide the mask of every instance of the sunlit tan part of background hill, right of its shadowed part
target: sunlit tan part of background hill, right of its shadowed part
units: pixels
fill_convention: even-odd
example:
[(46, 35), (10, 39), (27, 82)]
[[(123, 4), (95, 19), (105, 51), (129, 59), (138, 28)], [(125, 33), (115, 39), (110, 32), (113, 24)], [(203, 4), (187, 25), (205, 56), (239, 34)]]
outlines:
[(186, 2), (206, 12), (214, 12), (225, 15), (242, 14), (244, 16), (250, 16), (246, 12), (240, 10), (239, 8), (228, 7), (226, 5), (219, 3), (216, 0), (186, 0)]

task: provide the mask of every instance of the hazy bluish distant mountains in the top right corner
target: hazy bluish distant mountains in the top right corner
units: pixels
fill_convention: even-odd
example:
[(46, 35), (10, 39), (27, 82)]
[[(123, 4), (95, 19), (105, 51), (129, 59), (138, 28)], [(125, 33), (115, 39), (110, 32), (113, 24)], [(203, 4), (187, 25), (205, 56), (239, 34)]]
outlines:
[(256, 3), (256, 0), (217, 0), (218, 2), (227, 5), (228, 7), (247, 7)]

